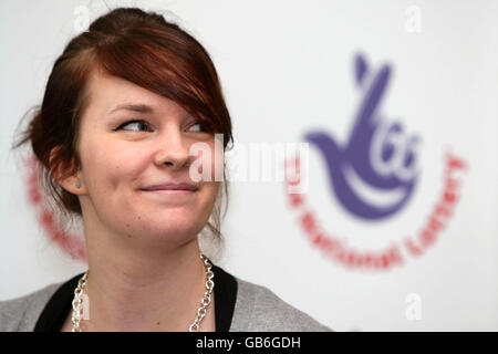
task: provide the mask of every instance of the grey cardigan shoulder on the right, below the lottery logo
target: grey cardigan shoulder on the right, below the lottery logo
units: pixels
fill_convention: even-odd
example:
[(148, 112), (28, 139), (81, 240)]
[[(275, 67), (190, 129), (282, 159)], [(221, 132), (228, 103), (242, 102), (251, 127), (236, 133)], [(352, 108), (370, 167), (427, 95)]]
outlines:
[(237, 277), (236, 280), (237, 302), (231, 332), (333, 332), (270, 289)]

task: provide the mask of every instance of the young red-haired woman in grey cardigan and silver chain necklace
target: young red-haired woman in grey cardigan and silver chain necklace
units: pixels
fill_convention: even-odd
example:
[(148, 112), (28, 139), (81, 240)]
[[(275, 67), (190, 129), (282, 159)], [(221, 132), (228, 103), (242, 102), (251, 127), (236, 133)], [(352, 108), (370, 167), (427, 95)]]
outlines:
[(200, 253), (201, 230), (221, 236), (231, 122), (208, 53), (176, 24), (96, 19), (55, 61), (28, 142), (83, 221), (89, 270), (0, 302), (0, 331), (330, 331)]

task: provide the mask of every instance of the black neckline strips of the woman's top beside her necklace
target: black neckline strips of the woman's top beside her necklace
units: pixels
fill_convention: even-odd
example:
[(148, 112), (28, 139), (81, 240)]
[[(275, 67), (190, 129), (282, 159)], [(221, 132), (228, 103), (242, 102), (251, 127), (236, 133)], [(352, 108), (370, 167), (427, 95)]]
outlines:
[[(215, 273), (215, 317), (216, 332), (228, 332), (234, 316), (237, 299), (237, 280), (212, 262)], [(46, 303), (37, 321), (33, 332), (60, 332), (70, 311), (74, 289), (84, 273), (77, 274), (63, 283)]]

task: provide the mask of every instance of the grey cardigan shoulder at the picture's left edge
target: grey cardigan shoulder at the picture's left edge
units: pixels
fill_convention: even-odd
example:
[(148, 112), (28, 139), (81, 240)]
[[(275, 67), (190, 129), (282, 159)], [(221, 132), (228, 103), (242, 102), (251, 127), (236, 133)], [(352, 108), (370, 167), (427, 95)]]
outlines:
[(27, 295), (0, 301), (0, 332), (31, 332), (53, 293), (62, 283), (53, 283)]

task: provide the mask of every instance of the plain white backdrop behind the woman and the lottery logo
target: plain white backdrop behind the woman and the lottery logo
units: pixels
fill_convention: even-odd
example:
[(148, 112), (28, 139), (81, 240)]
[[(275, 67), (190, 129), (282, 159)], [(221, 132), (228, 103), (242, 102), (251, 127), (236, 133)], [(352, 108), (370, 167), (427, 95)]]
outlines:
[[(232, 183), (219, 266), (338, 331), (498, 330), (497, 1), (125, 3), (170, 11), (207, 48), (239, 144), (297, 143), (315, 127), (345, 139), (360, 104), (353, 55), (363, 53), (373, 67), (393, 65), (383, 112), (424, 140), (409, 204), (381, 222), (352, 217), (310, 150), (308, 202), (350, 246), (383, 248), (416, 235), (439, 197), (447, 147), (469, 166), (437, 241), (385, 272), (347, 270), (323, 257), (282, 183)], [(41, 102), (53, 61), (77, 33), (80, 6), (91, 21), (105, 9), (102, 1), (0, 2), (0, 300), (85, 269), (48, 241), (28, 202), (25, 168), (9, 150), (15, 125)], [(413, 9), (415, 32), (407, 27)], [(415, 320), (406, 314), (412, 293), (419, 299)]]

